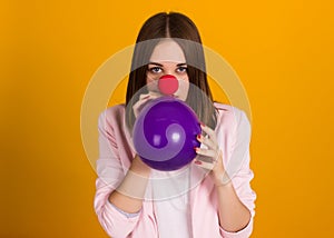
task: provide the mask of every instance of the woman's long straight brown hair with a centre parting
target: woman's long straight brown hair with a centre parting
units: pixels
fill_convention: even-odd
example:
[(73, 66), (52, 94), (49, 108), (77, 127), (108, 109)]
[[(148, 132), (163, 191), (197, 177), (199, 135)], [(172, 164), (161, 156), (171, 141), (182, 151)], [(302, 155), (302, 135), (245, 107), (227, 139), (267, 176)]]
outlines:
[[(150, 17), (141, 27), (136, 40), (131, 61), (131, 72), (126, 96), (126, 123), (129, 129), (135, 123), (132, 105), (139, 99), (136, 93), (146, 86), (148, 62), (155, 47), (164, 38), (173, 38), (184, 51), (189, 82), (200, 90), (188, 91), (186, 99), (205, 125), (215, 128), (217, 116), (207, 81), (204, 50), (197, 27), (185, 14), (160, 12)], [(204, 93), (203, 93), (204, 92)]]

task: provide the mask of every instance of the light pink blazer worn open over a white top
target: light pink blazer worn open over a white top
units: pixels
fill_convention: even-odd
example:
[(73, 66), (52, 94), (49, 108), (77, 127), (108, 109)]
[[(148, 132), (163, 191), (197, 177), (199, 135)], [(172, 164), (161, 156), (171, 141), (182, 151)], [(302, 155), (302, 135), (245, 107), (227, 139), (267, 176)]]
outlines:
[[(210, 177), (207, 176), (190, 190), (191, 237), (246, 238), (253, 230), (256, 199), (256, 194), (250, 188), (250, 180), (254, 177), (249, 169), (250, 125), (244, 111), (228, 105), (215, 102), (215, 106), (218, 109), (216, 135), (223, 150), (223, 163), (226, 169), (232, 168), (234, 171), (229, 177), (238, 198), (249, 209), (252, 218), (243, 230), (237, 232), (224, 230), (218, 220), (216, 189)], [(110, 192), (122, 181), (135, 156), (131, 138), (125, 126), (125, 106), (118, 105), (104, 110), (98, 119), (98, 178), (94, 206), (99, 222), (114, 238), (159, 237), (153, 201), (145, 200), (138, 216), (127, 217), (108, 200)], [(230, 166), (233, 159), (239, 160), (239, 166), (237, 168), (234, 166), (236, 169)], [(194, 171), (196, 173), (196, 170)]]

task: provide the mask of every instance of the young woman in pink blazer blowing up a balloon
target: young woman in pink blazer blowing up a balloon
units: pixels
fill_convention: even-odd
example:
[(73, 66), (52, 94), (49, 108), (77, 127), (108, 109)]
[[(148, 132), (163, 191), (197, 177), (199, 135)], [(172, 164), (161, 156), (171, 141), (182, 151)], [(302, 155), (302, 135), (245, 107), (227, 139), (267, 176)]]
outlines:
[[(160, 96), (155, 82), (164, 75), (178, 79), (174, 96), (194, 109), (203, 131), (200, 148), (194, 148), (198, 156), (170, 172), (144, 163), (130, 132), (146, 102)], [(163, 12), (144, 23), (126, 105), (102, 111), (98, 129), (95, 209), (110, 237), (250, 236), (256, 199), (249, 184), (250, 125), (244, 111), (212, 102), (202, 40), (189, 18)], [(226, 168), (235, 156), (242, 163), (230, 175)]]

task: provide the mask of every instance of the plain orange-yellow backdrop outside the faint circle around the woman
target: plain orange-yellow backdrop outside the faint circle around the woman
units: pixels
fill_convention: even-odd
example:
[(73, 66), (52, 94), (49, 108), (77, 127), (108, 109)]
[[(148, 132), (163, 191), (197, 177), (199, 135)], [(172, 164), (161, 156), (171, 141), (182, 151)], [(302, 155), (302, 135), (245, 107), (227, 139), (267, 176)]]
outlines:
[(39, 0), (0, 6), (0, 237), (107, 237), (92, 208), (81, 100), (97, 68), (169, 10), (196, 22), (248, 93), (252, 237), (332, 234), (332, 1)]

